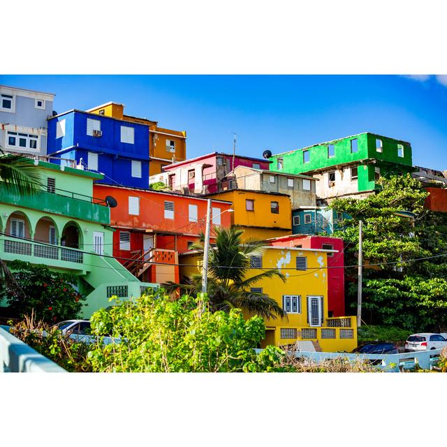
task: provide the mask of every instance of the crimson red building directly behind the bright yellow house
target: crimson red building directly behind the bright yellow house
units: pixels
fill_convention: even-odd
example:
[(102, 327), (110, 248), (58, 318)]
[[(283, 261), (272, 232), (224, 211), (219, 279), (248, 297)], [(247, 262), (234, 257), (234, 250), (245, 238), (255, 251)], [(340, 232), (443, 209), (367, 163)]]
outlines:
[(266, 240), (274, 247), (302, 247), (303, 249), (330, 249), (328, 253), (328, 311), (329, 316), (344, 316), (344, 244), (339, 237), (317, 235), (290, 235)]

